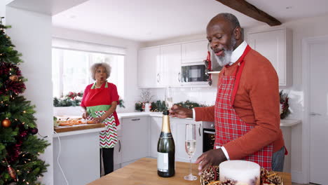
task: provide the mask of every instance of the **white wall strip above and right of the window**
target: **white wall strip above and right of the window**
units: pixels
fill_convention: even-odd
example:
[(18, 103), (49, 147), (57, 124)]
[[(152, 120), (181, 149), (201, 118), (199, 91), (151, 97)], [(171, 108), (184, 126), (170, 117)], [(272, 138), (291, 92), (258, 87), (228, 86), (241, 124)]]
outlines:
[(117, 111), (131, 112), (135, 111), (135, 102), (139, 98), (139, 88), (137, 88), (137, 50), (139, 43), (125, 39), (119, 39), (111, 36), (82, 32), (74, 29), (64, 29), (53, 27), (53, 36), (62, 39), (71, 39), (75, 41), (85, 41), (89, 43), (100, 43), (109, 46), (118, 46), (126, 48), (124, 64), (124, 102), (125, 109), (119, 108)]

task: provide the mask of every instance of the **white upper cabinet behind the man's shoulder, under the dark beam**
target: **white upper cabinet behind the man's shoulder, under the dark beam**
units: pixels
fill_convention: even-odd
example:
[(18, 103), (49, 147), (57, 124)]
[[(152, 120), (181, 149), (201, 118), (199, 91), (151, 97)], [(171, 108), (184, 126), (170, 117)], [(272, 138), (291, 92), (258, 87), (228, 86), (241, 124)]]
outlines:
[(292, 32), (289, 29), (248, 32), (247, 43), (273, 64), (280, 86), (292, 85)]

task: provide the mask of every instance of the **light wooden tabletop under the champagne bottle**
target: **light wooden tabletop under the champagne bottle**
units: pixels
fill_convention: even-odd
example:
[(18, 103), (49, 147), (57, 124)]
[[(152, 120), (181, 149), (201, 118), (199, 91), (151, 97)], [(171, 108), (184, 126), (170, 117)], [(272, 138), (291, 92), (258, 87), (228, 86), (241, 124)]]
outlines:
[[(198, 165), (192, 164), (193, 175), (198, 174)], [(189, 174), (189, 163), (177, 162), (174, 177), (163, 178), (157, 175), (157, 160), (153, 158), (141, 158), (121, 169), (90, 182), (88, 185), (200, 185), (200, 177), (196, 181), (186, 181), (184, 176)], [(289, 173), (278, 172), (284, 180), (284, 185), (292, 185)]]

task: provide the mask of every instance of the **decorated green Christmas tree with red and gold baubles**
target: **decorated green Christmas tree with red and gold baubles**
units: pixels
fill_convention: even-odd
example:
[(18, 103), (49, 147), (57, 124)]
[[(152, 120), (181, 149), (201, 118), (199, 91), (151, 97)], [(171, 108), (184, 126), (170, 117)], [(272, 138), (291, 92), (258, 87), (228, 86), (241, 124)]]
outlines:
[(7, 28), (0, 18), (0, 184), (41, 184), (48, 165), (38, 157), (49, 144), (36, 136), (35, 107), (20, 95), (26, 79)]

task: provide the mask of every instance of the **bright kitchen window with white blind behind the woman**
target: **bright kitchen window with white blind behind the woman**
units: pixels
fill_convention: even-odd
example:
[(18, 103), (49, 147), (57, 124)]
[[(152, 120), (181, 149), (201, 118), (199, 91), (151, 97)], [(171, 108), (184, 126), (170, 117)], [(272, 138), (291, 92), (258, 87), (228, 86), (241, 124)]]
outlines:
[(107, 81), (116, 85), (123, 99), (124, 54), (123, 48), (53, 39), (53, 97), (83, 92), (86, 85), (94, 82), (90, 76), (91, 65), (105, 62), (111, 66)]

